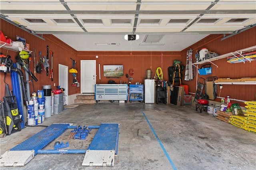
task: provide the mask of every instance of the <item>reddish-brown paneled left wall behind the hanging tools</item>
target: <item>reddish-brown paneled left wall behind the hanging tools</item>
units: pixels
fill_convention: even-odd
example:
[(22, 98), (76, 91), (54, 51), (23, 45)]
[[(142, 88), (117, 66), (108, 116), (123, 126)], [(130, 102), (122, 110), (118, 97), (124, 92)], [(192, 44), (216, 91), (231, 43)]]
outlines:
[[(72, 60), (70, 59), (70, 57), (77, 61), (77, 51), (72, 47), (66, 45), (66, 43), (61, 42), (58, 38), (52, 35), (43, 35), (43, 38), (45, 38), (45, 40), (42, 40), (2, 19), (0, 20), (0, 22), (1, 31), (4, 33), (5, 36), (11, 38), (12, 40), (16, 40), (16, 35), (23, 37), (26, 39), (26, 42), (30, 44), (30, 51), (34, 51), (34, 49), (36, 50), (36, 62), (39, 61), (39, 51), (41, 51), (42, 56), (46, 55), (46, 46), (49, 46), (49, 61), (51, 59), (50, 51), (53, 51), (54, 81), (51, 81), (50, 73), (49, 76), (46, 76), (46, 71), (44, 71), (43, 69), (42, 73), (36, 73), (36, 78), (38, 79), (38, 81), (34, 81), (34, 89), (35, 91), (40, 90), (42, 89), (42, 85), (51, 85), (52, 89), (57, 89), (56, 87), (54, 87), (54, 83), (56, 84), (56, 86), (59, 83), (58, 64), (67, 65), (69, 68), (72, 68)], [(3, 53), (4, 55), (10, 55), (12, 61), (16, 63), (15, 57), (18, 55), (18, 52), (10, 51), (3, 48), (1, 48), (0, 50), (1, 53)], [(33, 53), (31, 57), (33, 58)], [(21, 70), (24, 72), (23, 68)], [(32, 71), (32, 73), (34, 73), (34, 63), (32, 60), (30, 62), (30, 70)], [(10, 77), (10, 73), (7, 73), (5, 82), (9, 84), (9, 87), (12, 90), (12, 81)], [(68, 83), (70, 84), (69, 94), (75, 94), (78, 91), (78, 87), (71, 86), (72, 81), (73, 78), (72, 75), (70, 75), (68, 77)], [(0, 84), (0, 99), (3, 100), (5, 94), (5, 87), (4, 73), (2, 72), (0, 73)], [(32, 83), (30, 83), (30, 92), (33, 93)]]

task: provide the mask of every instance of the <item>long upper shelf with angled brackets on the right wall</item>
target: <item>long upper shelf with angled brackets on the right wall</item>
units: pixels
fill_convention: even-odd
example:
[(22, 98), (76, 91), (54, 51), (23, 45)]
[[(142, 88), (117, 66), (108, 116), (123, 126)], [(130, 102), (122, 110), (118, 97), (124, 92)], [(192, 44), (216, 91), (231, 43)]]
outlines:
[[(236, 56), (236, 55), (241, 55), (243, 52), (250, 52), (250, 51), (255, 51), (256, 50), (256, 45), (252, 46), (252, 47), (248, 47), (248, 48), (244, 48), (244, 49), (240, 49), (240, 50), (237, 50), (237, 51), (234, 51), (234, 52), (230, 52), (230, 53), (226, 53), (226, 54), (223, 54), (223, 55), (219, 55), (217, 57), (213, 57), (213, 58), (210, 58), (210, 59), (206, 59), (206, 60), (203, 60), (203, 61), (200, 61), (200, 62), (197, 62), (197, 63), (192, 63), (193, 65), (198, 65), (198, 64), (203, 64), (203, 63), (212, 63), (212, 61), (215, 61), (215, 60), (218, 60), (218, 59), (223, 59), (223, 58), (227, 58), (227, 57), (231, 57), (231, 56)], [(218, 67), (218, 65), (212, 63), (213, 65), (215, 65), (216, 67)]]

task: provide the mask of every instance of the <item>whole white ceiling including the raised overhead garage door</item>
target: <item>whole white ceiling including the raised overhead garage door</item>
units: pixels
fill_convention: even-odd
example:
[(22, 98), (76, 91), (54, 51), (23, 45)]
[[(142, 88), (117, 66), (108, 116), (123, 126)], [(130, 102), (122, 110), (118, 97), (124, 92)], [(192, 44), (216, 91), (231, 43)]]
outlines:
[[(235, 35), (256, 26), (256, 0), (0, 0), (0, 13), (35, 36), (54, 34), (78, 51), (129, 51), (131, 43), (136, 51), (159, 50), (140, 45), (147, 35), (164, 35), (161, 49), (180, 51), (209, 34)], [(128, 42), (126, 34), (140, 39)]]

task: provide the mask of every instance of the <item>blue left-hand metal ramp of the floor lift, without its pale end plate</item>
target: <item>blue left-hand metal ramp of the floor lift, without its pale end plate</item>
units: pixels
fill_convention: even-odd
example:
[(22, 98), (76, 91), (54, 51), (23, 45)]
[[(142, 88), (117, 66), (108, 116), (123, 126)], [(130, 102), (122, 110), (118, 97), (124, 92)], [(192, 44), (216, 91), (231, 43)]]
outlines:
[(10, 150), (34, 150), (36, 155), (38, 150), (58, 138), (69, 126), (70, 124), (52, 124)]

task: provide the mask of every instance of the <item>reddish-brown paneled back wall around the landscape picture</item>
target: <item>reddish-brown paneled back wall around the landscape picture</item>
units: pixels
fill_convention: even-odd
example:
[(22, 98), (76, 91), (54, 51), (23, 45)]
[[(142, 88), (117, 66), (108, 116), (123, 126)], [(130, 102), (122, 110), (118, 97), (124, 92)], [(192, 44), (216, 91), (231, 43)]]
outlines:
[[(96, 58), (98, 55), (98, 58)], [(96, 60), (96, 83), (108, 83), (110, 79), (116, 83), (126, 82), (128, 78), (125, 74), (129, 74), (129, 70), (133, 70), (132, 84), (136, 82), (144, 83), (146, 70), (152, 69), (152, 76), (154, 77), (156, 69), (162, 68), (164, 80), (168, 81), (167, 68), (172, 65), (174, 59), (181, 60), (179, 51), (78, 51), (78, 60), (95, 59)], [(99, 76), (99, 64), (100, 73)], [(120, 79), (108, 79), (103, 76), (103, 65), (124, 65), (124, 76)], [(101, 77), (101, 79), (99, 79)]]

